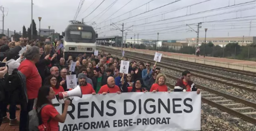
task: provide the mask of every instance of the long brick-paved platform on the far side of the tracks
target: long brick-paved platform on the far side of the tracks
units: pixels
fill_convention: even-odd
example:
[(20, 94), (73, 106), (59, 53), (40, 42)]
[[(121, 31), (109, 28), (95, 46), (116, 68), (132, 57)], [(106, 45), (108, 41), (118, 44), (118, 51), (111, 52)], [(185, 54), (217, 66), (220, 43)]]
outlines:
[[(106, 47), (106, 46), (99, 46), (99, 47)], [(107, 48), (121, 50), (120, 47), (107, 47)], [(130, 48), (123, 48), (123, 50), (142, 53), (142, 54), (150, 54), (150, 55), (154, 55), (156, 52), (156, 50), (130, 49)], [(236, 59), (227, 59), (227, 58), (218, 58), (218, 57), (207, 57), (207, 56), (206, 57), (203, 57), (203, 56), (196, 57), (195, 55), (190, 55), (190, 54), (180, 54), (180, 53), (163, 52), (163, 51), (159, 51), (159, 52), (163, 54), (162, 57), (166, 57), (166, 58), (207, 64), (207, 65), (212, 65), (212, 66), (226, 67), (226, 68), (230, 68), (230, 69), (238, 69), (238, 70), (243, 70), (243, 71), (256, 72), (256, 62), (254, 62), (254, 61), (236, 60)]]

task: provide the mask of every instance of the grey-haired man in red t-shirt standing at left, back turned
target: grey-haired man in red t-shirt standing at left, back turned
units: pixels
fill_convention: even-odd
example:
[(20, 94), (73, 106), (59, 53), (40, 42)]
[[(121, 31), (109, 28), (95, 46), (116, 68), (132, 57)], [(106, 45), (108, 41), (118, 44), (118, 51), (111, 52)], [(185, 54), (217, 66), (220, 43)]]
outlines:
[(28, 94), (27, 107), (21, 104), (21, 113), (19, 123), (19, 131), (27, 131), (26, 125), (28, 122), (28, 112), (33, 109), (35, 98), (37, 98), (39, 88), (42, 86), (41, 76), (35, 66), (35, 63), (39, 61), (40, 54), (38, 47), (31, 47), (25, 53), (25, 60), (21, 62), (18, 70), (26, 76), (26, 88)]

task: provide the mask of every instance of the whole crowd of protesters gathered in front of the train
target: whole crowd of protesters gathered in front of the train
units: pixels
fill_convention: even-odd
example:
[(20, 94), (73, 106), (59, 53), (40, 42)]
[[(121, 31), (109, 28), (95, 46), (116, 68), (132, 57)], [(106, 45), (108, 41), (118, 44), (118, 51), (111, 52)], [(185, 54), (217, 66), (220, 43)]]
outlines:
[[(76, 75), (82, 94), (168, 91), (166, 76), (161, 73), (159, 67), (151, 65), (150, 62), (130, 60), (128, 74), (123, 74), (119, 72), (121, 60), (112, 57), (111, 54), (105, 54), (104, 51), (98, 56), (93, 54), (88, 56), (85, 53), (79, 54), (76, 58), (69, 56), (65, 60), (61, 40), (52, 42), (51, 39), (46, 39), (44, 42), (39, 40), (33, 42), (21, 37), (8, 42), (7, 37), (0, 34), (0, 52), (4, 53), (0, 61), (7, 63), (7, 67), (0, 67), (0, 125), (1, 123), (9, 123), (10, 126), (19, 124), (19, 131), (28, 130), (29, 111), (43, 104), (49, 104), (41, 111), (43, 124), (48, 126), (50, 131), (59, 131), (58, 123), (64, 123), (70, 101), (65, 101), (64, 111), (59, 114), (52, 106), (51, 100), (59, 92), (70, 90), (66, 81), (66, 76), (69, 74)], [(124, 57), (123, 60), (128, 59)], [(76, 62), (73, 72), (69, 71), (71, 62)], [(25, 79), (24, 95), (21, 95), (22, 82), (17, 81), (18, 71), (22, 74), (21, 78)], [(200, 90), (197, 90), (190, 80), (190, 72), (184, 71), (182, 76), (177, 81), (174, 91), (197, 91), (199, 94)], [(22, 121), (16, 119), (16, 110), (19, 109), (16, 107), (17, 104), (21, 105)], [(9, 109), (7, 105), (10, 105)], [(7, 111), (10, 113), (9, 118)], [(52, 118), (50, 122), (49, 117)]]

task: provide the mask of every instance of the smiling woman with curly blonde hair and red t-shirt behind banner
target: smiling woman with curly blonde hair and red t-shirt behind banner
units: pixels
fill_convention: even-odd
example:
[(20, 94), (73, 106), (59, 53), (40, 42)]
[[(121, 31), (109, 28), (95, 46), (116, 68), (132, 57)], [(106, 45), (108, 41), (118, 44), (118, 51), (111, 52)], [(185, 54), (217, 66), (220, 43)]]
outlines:
[(150, 88), (150, 92), (165, 92), (168, 91), (166, 86), (166, 76), (164, 74), (158, 74), (156, 76), (156, 82)]

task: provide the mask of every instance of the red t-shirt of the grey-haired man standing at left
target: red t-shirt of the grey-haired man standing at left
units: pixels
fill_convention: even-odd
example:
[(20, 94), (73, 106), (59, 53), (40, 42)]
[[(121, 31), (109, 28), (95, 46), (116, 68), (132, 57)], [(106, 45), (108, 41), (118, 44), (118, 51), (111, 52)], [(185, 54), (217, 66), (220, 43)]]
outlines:
[(26, 87), (28, 99), (35, 99), (38, 95), (38, 90), (42, 86), (42, 78), (33, 62), (25, 59), (21, 62), (18, 70), (26, 76)]

